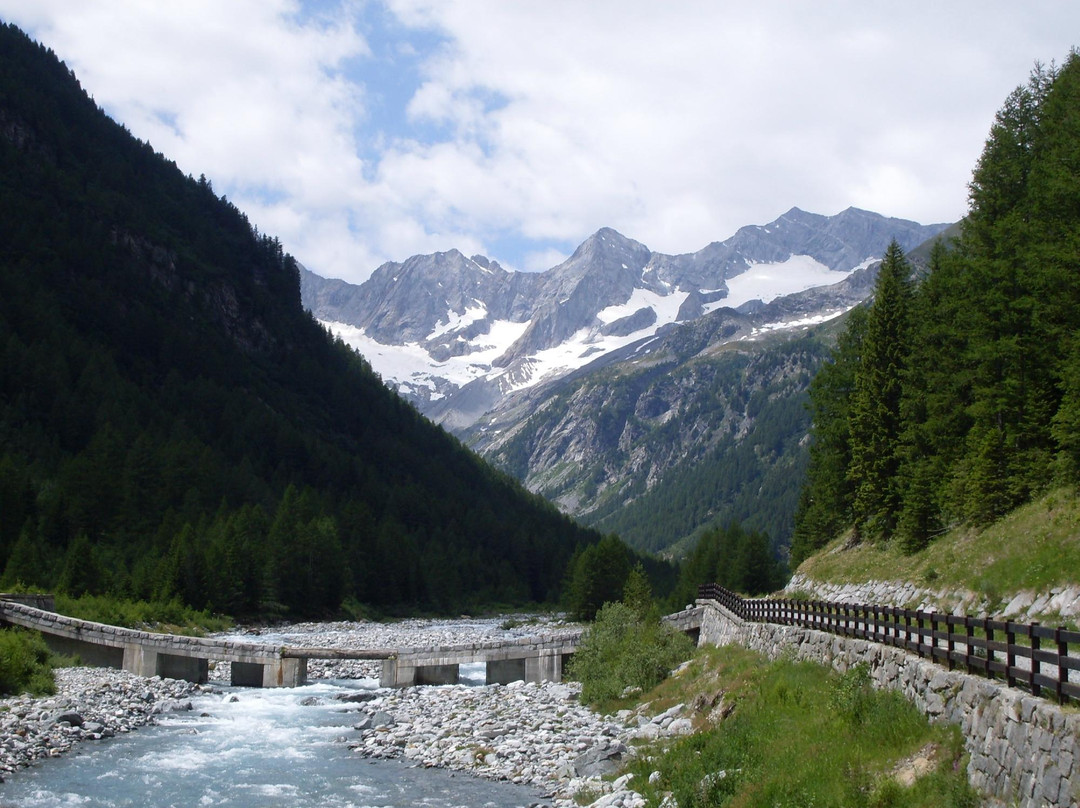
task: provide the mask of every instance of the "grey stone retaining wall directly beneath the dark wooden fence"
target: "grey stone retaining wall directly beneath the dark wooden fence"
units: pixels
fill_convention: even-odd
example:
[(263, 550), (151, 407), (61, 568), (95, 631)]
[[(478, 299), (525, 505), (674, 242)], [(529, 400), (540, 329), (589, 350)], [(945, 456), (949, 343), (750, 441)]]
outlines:
[(931, 721), (959, 725), (971, 756), (968, 779), (984, 794), (1021, 808), (1080, 804), (1080, 714), (900, 648), (745, 622), (712, 601), (699, 605), (702, 643), (738, 643), (770, 659), (794, 654), (841, 673), (864, 662), (876, 687), (899, 690)]

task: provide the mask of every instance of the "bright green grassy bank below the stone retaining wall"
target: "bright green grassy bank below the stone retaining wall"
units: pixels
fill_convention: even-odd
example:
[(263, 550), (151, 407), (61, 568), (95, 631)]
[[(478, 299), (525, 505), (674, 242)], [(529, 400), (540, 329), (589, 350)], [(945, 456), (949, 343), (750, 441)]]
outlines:
[[(931, 726), (865, 669), (839, 676), (751, 651), (699, 652), (646, 695), (650, 710), (700, 708), (697, 735), (634, 758), (634, 787), (659, 806), (697, 808), (974, 808), (956, 727)], [(929, 771), (916, 765), (924, 758)], [(650, 782), (650, 775), (659, 778)], [(914, 783), (901, 784), (903, 775)]]

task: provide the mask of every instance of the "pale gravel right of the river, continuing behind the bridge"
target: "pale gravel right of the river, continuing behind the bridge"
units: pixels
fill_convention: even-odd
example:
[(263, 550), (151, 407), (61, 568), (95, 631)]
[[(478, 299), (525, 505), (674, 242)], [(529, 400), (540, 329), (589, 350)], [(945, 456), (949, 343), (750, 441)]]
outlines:
[[(405, 620), (395, 623), (298, 623), (244, 631), (244, 639), (330, 648), (394, 648), (509, 641), (580, 631), (557, 618), (500, 617)], [(253, 636), (255, 634), (256, 636)], [(312, 660), (309, 678), (378, 678), (378, 662)], [(222, 674), (224, 675), (224, 674)], [(627, 780), (603, 776), (633, 754), (636, 739), (690, 731), (679, 709), (600, 715), (579, 701), (576, 683), (409, 687), (378, 690), (355, 703), (356, 738), (349, 745), (369, 758), (404, 758), (489, 780), (538, 789), (551, 805), (597, 808), (644, 805)]]

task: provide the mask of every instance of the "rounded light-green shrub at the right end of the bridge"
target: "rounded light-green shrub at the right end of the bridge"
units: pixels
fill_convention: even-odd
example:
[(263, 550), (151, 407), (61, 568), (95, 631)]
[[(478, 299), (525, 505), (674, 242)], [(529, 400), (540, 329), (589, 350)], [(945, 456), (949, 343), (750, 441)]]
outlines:
[(595, 704), (618, 699), (627, 687), (654, 687), (692, 649), (689, 637), (660, 620), (608, 603), (582, 636), (568, 674), (581, 682), (581, 700)]

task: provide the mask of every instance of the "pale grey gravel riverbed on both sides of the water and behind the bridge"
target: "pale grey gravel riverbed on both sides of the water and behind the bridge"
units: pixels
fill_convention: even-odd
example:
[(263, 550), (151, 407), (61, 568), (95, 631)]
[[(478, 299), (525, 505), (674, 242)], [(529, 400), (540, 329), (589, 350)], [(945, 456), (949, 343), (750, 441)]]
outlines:
[[(580, 627), (561, 621), (409, 620), (397, 623), (302, 623), (231, 634), (245, 641), (340, 648), (397, 648), (517, 638)], [(211, 671), (208, 685), (143, 678), (108, 669), (57, 671), (57, 695), (0, 700), (0, 772), (57, 756), (80, 740), (99, 740), (152, 724), (157, 716), (190, 710), (191, 699), (228, 678), (228, 665)], [(377, 679), (378, 662), (312, 661), (310, 678)], [(355, 713), (345, 739), (357, 756), (400, 757), (539, 789), (549, 805), (569, 808), (590, 794), (596, 808), (644, 805), (627, 778), (604, 780), (637, 739), (690, 731), (683, 710), (659, 716), (622, 712), (604, 716), (579, 701), (573, 683), (476, 686), (372, 687), (342, 693)]]

